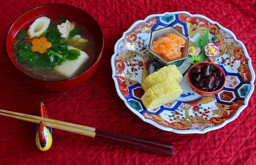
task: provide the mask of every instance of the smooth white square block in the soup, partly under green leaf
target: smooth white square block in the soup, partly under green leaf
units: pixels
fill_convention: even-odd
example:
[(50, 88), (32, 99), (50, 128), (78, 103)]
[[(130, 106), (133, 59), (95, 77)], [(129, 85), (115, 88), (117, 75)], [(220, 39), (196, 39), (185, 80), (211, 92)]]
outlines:
[[(70, 49), (76, 49), (73, 46), (68, 46), (68, 50)], [(79, 50), (79, 49), (76, 49)], [(89, 55), (85, 52), (79, 50), (81, 55), (78, 56), (76, 60), (66, 60), (61, 65), (55, 66), (55, 70), (62, 74), (63, 76), (66, 76), (67, 78), (71, 78), (88, 60)]]

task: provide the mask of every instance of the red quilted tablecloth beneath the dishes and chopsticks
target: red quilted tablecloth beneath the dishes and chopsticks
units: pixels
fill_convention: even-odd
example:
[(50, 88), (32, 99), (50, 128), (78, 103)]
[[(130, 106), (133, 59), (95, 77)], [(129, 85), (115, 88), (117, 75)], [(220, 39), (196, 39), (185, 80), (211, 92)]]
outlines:
[[(23, 12), (47, 3), (80, 7), (99, 23), (104, 50), (96, 73), (85, 83), (59, 92), (36, 92), (8, 62), (4, 38), (11, 23)], [(0, 116), (0, 164), (256, 164), (254, 93), (235, 121), (206, 134), (175, 134), (143, 122), (118, 97), (110, 58), (114, 44), (132, 23), (150, 14), (188, 11), (202, 14), (234, 32), (247, 47), (256, 67), (256, 1), (1, 1), (0, 2), (0, 108), (38, 114), (43, 101), (50, 118), (172, 143), (172, 157), (136, 150), (100, 139), (53, 129), (53, 145), (46, 152), (35, 145), (35, 124)], [(60, 9), (58, 9), (60, 10)]]

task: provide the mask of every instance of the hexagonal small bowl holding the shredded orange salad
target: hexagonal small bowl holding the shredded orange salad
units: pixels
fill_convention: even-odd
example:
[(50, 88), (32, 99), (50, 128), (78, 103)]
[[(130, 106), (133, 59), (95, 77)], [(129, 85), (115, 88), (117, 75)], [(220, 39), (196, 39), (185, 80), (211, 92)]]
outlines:
[[(171, 60), (171, 61), (166, 61), (160, 55), (153, 52), (153, 50), (151, 49), (152, 43), (154, 41), (156, 41), (159, 37), (165, 36), (167, 33), (176, 34), (185, 40), (185, 46), (181, 48), (181, 53), (182, 53), (181, 58)], [(184, 34), (180, 33), (173, 26), (168, 26), (168, 27), (165, 27), (162, 29), (154, 30), (150, 34), (149, 60), (158, 68), (162, 68), (162, 67), (168, 66), (168, 65), (176, 65), (178, 67), (186, 60), (186, 58), (188, 58), (188, 47), (189, 47), (189, 38), (187, 36), (185, 36)]]

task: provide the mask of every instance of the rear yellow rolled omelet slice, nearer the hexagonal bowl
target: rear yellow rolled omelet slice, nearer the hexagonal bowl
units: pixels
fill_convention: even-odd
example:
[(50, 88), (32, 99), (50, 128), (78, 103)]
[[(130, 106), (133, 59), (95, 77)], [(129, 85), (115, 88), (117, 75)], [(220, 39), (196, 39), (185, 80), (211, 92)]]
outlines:
[(182, 78), (183, 76), (177, 69), (176, 65), (168, 65), (147, 76), (141, 84), (141, 87), (144, 89), (144, 91), (147, 91), (147, 89), (150, 87), (163, 81), (175, 79), (179, 83), (181, 82)]

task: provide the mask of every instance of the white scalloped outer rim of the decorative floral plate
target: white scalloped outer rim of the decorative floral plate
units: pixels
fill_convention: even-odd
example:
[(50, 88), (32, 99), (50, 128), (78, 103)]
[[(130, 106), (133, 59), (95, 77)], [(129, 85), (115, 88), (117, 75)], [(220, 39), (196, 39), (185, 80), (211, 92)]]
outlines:
[[(122, 95), (122, 93), (120, 92), (120, 89), (119, 89), (119, 85), (118, 85), (118, 81), (115, 77), (116, 75), (116, 68), (115, 68), (115, 65), (114, 65), (114, 60), (115, 60), (115, 57), (117, 55), (117, 46), (118, 44), (125, 38), (126, 36), (126, 33), (128, 33), (129, 31), (131, 31), (135, 25), (137, 25), (138, 23), (142, 23), (142, 22), (145, 22), (146, 20), (148, 20), (149, 18), (152, 18), (152, 17), (161, 17), (161, 16), (164, 16), (166, 14), (169, 14), (169, 15), (175, 15), (175, 14), (187, 14), (191, 17), (200, 17), (200, 18), (204, 18), (205, 20), (207, 20), (208, 22), (212, 23), (212, 24), (217, 24), (221, 29), (223, 29), (224, 31), (226, 31), (227, 33), (229, 33), (234, 39), (235, 41), (237, 41), (240, 46), (243, 48), (244, 50), (244, 55), (246, 58), (248, 58), (248, 66), (249, 66), (249, 69), (250, 69), (250, 73), (251, 73), (251, 76), (252, 76), (252, 79), (250, 81), (250, 85), (251, 85), (251, 88), (250, 88), (250, 91), (247, 95), (247, 97), (245, 97), (244, 99), (244, 105), (242, 105), (241, 107), (239, 107), (237, 109), (237, 112), (234, 114), (234, 116), (232, 116), (231, 118), (225, 120), (222, 124), (218, 125), (218, 126), (213, 126), (213, 127), (207, 127), (203, 130), (198, 130), (198, 129), (187, 129), (187, 130), (178, 130), (178, 129), (173, 129), (173, 128), (170, 128), (170, 127), (164, 127), (164, 126), (161, 126), (160, 124), (156, 123), (155, 121), (153, 120), (150, 120), (150, 119), (146, 119), (141, 113), (139, 113), (138, 111), (134, 110), (134, 108), (132, 108), (127, 100), (124, 98), (124, 96)], [(112, 67), (112, 78), (114, 80), (114, 83), (115, 83), (115, 87), (116, 87), (116, 91), (117, 91), (117, 94), (119, 95), (119, 97), (124, 101), (125, 105), (127, 106), (127, 108), (129, 108), (133, 113), (135, 113), (137, 116), (139, 116), (140, 119), (142, 119), (143, 121), (149, 123), (149, 124), (152, 124), (153, 126), (159, 128), (159, 129), (162, 129), (164, 131), (170, 131), (170, 132), (174, 132), (174, 133), (177, 133), (177, 134), (204, 134), (206, 132), (209, 132), (209, 131), (213, 131), (213, 130), (216, 130), (216, 129), (220, 129), (222, 127), (224, 127), (227, 123), (231, 122), (231, 121), (234, 121), (239, 115), (240, 113), (242, 112), (242, 110), (244, 110), (247, 105), (248, 105), (248, 102), (249, 102), (249, 99), (254, 91), (254, 81), (255, 81), (255, 72), (254, 72), (254, 69), (252, 68), (252, 60), (251, 58), (249, 57), (248, 55), (248, 52), (247, 52), (247, 49), (245, 48), (244, 44), (242, 43), (242, 41), (238, 40), (235, 36), (235, 34), (230, 31), (229, 29), (221, 26), (218, 22), (215, 22), (211, 19), (209, 19), (208, 17), (204, 16), (204, 15), (201, 15), (201, 14), (190, 14), (189, 12), (186, 12), (186, 11), (178, 11), (178, 12), (165, 12), (163, 14), (152, 14), (152, 15), (149, 15), (147, 16), (144, 20), (138, 20), (136, 22), (134, 22), (130, 28), (128, 30), (126, 30), (122, 37), (116, 42), (115, 44), (115, 47), (114, 47), (114, 54), (112, 55), (111, 57), (111, 67)]]

